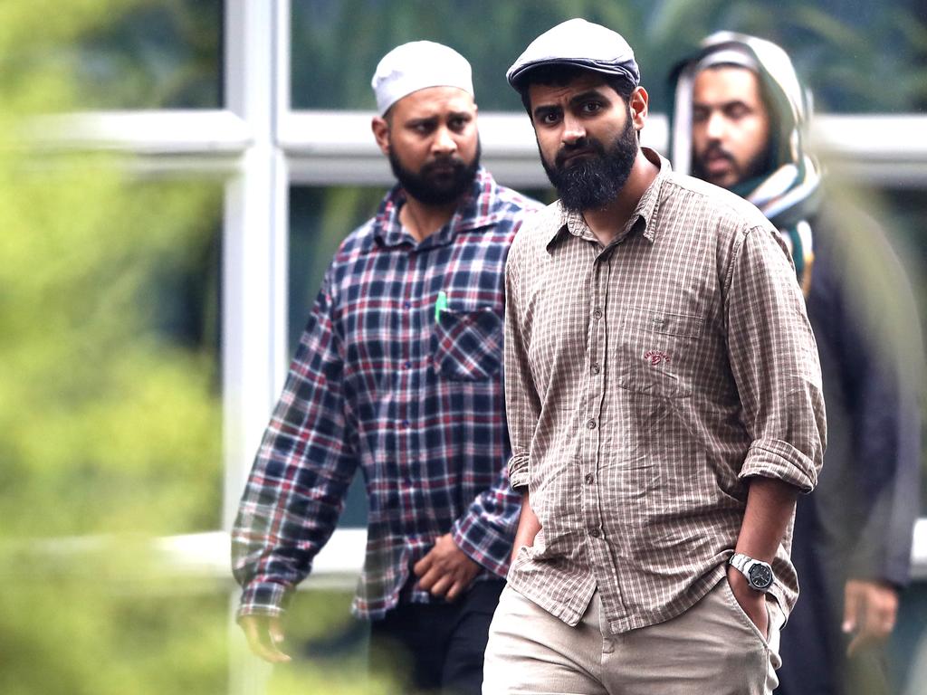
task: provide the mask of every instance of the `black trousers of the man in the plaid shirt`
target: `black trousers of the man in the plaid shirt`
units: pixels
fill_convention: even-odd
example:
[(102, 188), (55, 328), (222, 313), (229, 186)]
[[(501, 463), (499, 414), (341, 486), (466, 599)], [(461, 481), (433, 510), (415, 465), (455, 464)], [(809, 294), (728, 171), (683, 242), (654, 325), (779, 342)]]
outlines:
[(403, 695), (479, 695), (489, 623), (504, 586), (490, 579), (453, 602), (400, 603), (371, 625), (372, 672)]

